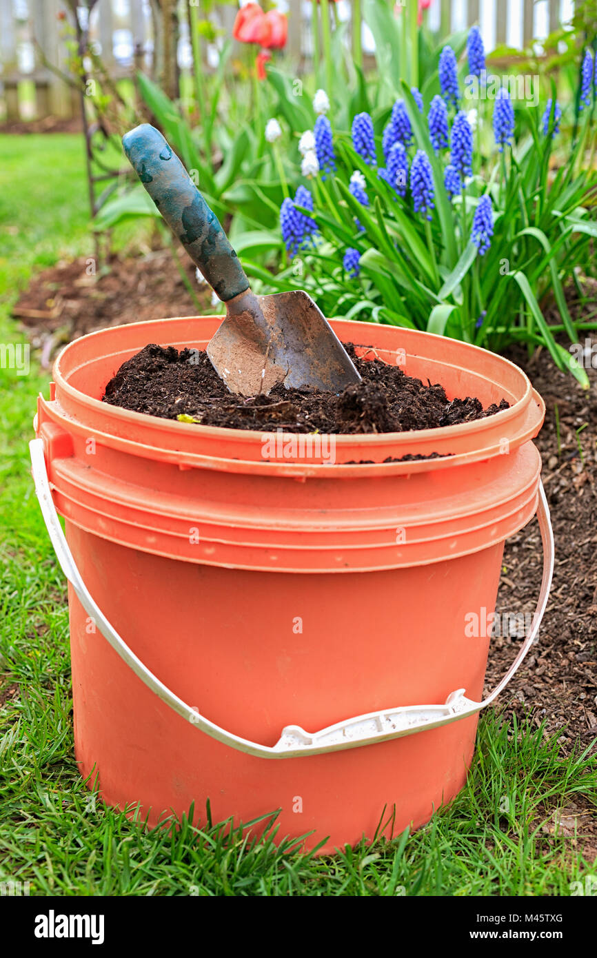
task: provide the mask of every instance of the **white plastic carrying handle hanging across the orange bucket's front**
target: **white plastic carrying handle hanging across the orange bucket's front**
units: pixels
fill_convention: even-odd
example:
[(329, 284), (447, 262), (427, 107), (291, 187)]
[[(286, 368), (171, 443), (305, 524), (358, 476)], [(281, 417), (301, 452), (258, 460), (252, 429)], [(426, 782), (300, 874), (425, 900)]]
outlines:
[(539, 487), (539, 503), (537, 515), (540, 524), (541, 541), (543, 543), (543, 576), (540, 586), (540, 596), (537, 609), (533, 617), (532, 627), (518, 650), (517, 657), (501, 682), (494, 688), (490, 696), (482, 702), (474, 702), (464, 695), (464, 689), (457, 689), (450, 693), (445, 705), (406, 705), (400, 708), (388, 709), (382, 712), (369, 712), (367, 715), (356, 716), (355, 719), (346, 719), (329, 725), (310, 735), (298, 725), (287, 725), (283, 729), (280, 740), (275, 745), (261, 745), (256, 741), (242, 739), (220, 728), (215, 722), (203, 718), (198, 711), (183, 702), (163, 682), (157, 678), (148, 667), (137, 658), (128, 648), (126, 642), (118, 632), (110, 626), (102, 610), (91, 598), (85, 583), (80, 577), (72, 553), (62, 532), (56, 507), (52, 499), (50, 482), (44, 458), (43, 440), (34, 439), (29, 444), (31, 450), (32, 472), (35, 484), (35, 493), (39, 500), (41, 513), (52, 540), (57, 560), (62, 572), (73, 586), (80, 604), (100, 629), (105, 640), (113, 650), (118, 652), (126, 665), (135, 675), (145, 682), (151, 692), (166, 702), (182, 719), (195, 725), (199, 731), (221, 741), (224, 745), (236, 748), (247, 755), (255, 755), (262, 759), (292, 759), (304, 755), (321, 755), (327, 752), (337, 752), (346, 748), (358, 748), (361, 745), (370, 745), (378, 741), (400, 739), (414, 732), (439, 728), (448, 722), (458, 719), (467, 719), (481, 709), (490, 705), (496, 696), (507, 685), (517, 672), (524, 656), (533, 645), (539, 632), (540, 622), (547, 605), (549, 589), (554, 571), (554, 537), (549, 518), (549, 509), (542, 484)]

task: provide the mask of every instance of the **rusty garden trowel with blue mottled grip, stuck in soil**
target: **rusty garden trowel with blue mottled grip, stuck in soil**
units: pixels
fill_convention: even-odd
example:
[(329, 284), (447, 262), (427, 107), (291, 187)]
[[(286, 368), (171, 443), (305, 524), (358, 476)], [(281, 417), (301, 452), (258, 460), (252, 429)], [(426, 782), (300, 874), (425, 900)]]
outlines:
[(126, 156), (172, 233), (219, 299), (226, 317), (207, 354), (228, 389), (243, 396), (287, 388), (334, 393), (360, 381), (340, 340), (302, 290), (256, 296), (217, 217), (154, 126), (123, 137)]

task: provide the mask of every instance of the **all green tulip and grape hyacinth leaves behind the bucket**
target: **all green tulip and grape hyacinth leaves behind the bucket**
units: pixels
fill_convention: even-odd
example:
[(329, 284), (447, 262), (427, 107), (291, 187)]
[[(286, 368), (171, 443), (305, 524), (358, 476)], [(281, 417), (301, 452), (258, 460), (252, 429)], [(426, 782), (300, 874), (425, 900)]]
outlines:
[[(574, 44), (583, 30), (589, 31), (590, 6), (586, 5), (582, 16), (577, 11), (581, 20), (566, 34), (567, 50), (574, 53), (576, 62), (568, 59), (563, 68), (574, 83), (579, 59)], [(172, 148), (226, 223), (258, 287), (307, 287), (327, 315), (406, 325), (493, 350), (520, 340), (530, 348), (542, 344), (559, 368), (570, 370), (586, 386), (585, 372), (558, 342), (558, 333), (563, 331), (571, 342), (577, 341), (564, 287), (571, 282), (578, 285), (578, 273), (594, 271), (594, 103), (590, 110), (579, 112), (574, 92), (571, 102), (564, 103), (562, 132), (555, 140), (542, 130), (546, 95), (540, 105), (517, 103), (515, 146), (507, 148), (502, 160), (491, 130), (494, 102), (464, 99), (465, 109), (476, 107), (479, 121), (474, 175), (464, 193), (450, 200), (444, 186), (448, 151), (441, 155), (433, 151), (426, 112), (440, 92), (437, 65), (447, 43), (459, 58), (463, 88), (467, 35), (461, 32), (440, 39), (424, 27), (413, 57), (406, 42), (407, 18), (393, 16), (384, 0), (363, 0), (362, 11), (376, 39), (378, 70), (365, 76), (342, 43), (341, 31), (333, 33), (334, 69), (326, 74), (332, 76), (330, 119), (338, 169), (326, 180), (301, 178), (297, 150), (300, 135), (315, 123), (312, 95), (322, 69), (315, 77), (298, 80), (270, 63), (266, 82), (254, 79), (248, 84), (233, 76), (227, 44), (213, 76), (204, 77), (195, 69), (192, 109), (185, 111), (182, 103), (173, 103), (143, 75), (138, 77), (139, 91)], [(195, 22), (195, 33), (199, 27)], [(194, 52), (196, 57), (196, 44)], [(406, 76), (408, 83), (402, 79)], [(423, 116), (410, 93), (415, 77), (424, 98)], [(553, 80), (551, 87), (555, 100)], [(414, 133), (409, 160), (415, 149), (423, 149), (431, 163), (435, 209), (429, 224), (414, 213), (410, 194), (403, 199), (398, 196), (379, 179), (375, 168), (362, 162), (352, 145), (353, 117), (369, 112), (381, 161), (382, 131), (397, 98), (406, 103)], [(282, 139), (273, 146), (264, 139), (270, 117), (277, 117), (283, 130)], [(349, 191), (354, 171), (365, 178), (367, 208)], [(279, 211), (287, 186), (293, 195), (301, 182), (313, 194), (312, 217), (319, 241), (288, 263)], [(485, 194), (492, 199), (494, 237), (489, 251), (479, 256), (471, 241), (471, 224)], [(135, 186), (108, 201), (97, 227), (148, 216), (157, 217), (157, 211)], [(356, 219), (361, 230), (356, 229)], [(361, 255), (356, 279), (342, 267), (349, 247)], [(552, 302), (560, 314), (555, 324), (546, 318), (546, 306), (551, 308)]]

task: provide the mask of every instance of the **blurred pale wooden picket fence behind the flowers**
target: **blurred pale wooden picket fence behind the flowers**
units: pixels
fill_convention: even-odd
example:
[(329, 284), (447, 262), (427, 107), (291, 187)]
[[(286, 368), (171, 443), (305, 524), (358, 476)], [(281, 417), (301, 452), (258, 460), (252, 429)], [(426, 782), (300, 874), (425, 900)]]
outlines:
[[(184, 4), (179, 0), (181, 69), (188, 68), (190, 44)], [(392, 2), (392, 0), (388, 0)], [(400, 2), (400, 0), (399, 0)], [(99, 0), (90, 21), (90, 39), (101, 51), (114, 77), (130, 74), (135, 65), (151, 69), (153, 50), (152, 0)], [(200, 5), (199, 5), (200, 6)], [(341, 0), (336, 14), (350, 19), (351, 0)], [(287, 0), (290, 29), (285, 56), (306, 68), (310, 62), (310, 5)], [(568, 18), (572, 0), (434, 0), (429, 10), (433, 28), (451, 30), (480, 23), (486, 46), (528, 43), (538, 34), (551, 33)], [(47, 116), (71, 117), (80, 112), (79, 95), (60, 79), (68, 65), (65, 26), (60, 19), (64, 0), (0, 0), (0, 115), (12, 122)], [(213, 16), (224, 35), (232, 33), (236, 7), (219, 5)], [(515, 22), (518, 21), (518, 22)], [(373, 53), (363, 30), (365, 53)], [(368, 46), (369, 42), (369, 46)], [(214, 51), (211, 51), (213, 54)], [(203, 44), (206, 68), (210, 50)]]

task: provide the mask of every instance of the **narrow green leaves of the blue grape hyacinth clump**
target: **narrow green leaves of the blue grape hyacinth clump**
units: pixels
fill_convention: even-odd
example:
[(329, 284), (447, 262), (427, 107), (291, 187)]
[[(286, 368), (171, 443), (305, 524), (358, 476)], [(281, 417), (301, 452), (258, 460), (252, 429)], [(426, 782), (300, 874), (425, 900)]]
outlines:
[[(400, 92), (415, 139), (408, 149), (409, 160), (416, 149), (423, 149), (431, 163), (435, 191), (431, 223), (414, 212), (410, 192), (402, 198), (379, 178), (375, 167), (363, 162), (348, 132), (331, 116), (338, 169), (325, 180), (318, 175), (303, 181), (313, 194), (315, 208), (309, 215), (319, 228), (319, 241), (306, 245), (277, 273), (275, 283), (268, 281), (259, 264), (247, 263), (248, 272), (264, 286), (307, 287), (330, 316), (414, 326), (493, 350), (519, 340), (542, 344), (560, 369), (569, 370), (586, 387), (585, 371), (555, 334), (563, 330), (572, 343), (578, 340), (563, 286), (576, 280), (575, 270), (594, 271), (597, 176), (583, 168), (591, 133), (589, 111), (583, 118), (583, 135), (563, 149), (562, 134), (552, 140), (543, 133), (544, 103), (517, 107), (519, 135), (500, 162), (493, 137), (487, 136), (494, 103), (477, 102), (486, 151), (477, 137), (474, 175), (463, 193), (450, 200), (444, 186), (448, 150), (439, 156), (434, 153), (426, 117), (403, 80)], [(555, 99), (555, 89), (553, 95)], [(379, 119), (388, 115), (389, 106), (378, 106), (373, 114), (379, 159)], [(521, 126), (528, 132), (520, 134)], [(364, 177), (367, 207), (349, 193), (354, 171)], [(299, 177), (293, 179), (298, 185)], [(484, 194), (492, 199), (494, 236), (489, 251), (479, 255), (471, 241), (471, 223)], [(342, 268), (348, 248), (361, 255), (357, 279)], [(560, 313), (555, 327), (548, 324), (542, 308), (552, 299)]]

